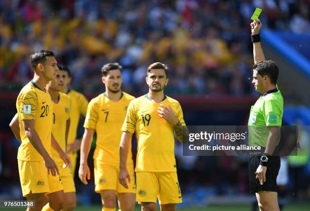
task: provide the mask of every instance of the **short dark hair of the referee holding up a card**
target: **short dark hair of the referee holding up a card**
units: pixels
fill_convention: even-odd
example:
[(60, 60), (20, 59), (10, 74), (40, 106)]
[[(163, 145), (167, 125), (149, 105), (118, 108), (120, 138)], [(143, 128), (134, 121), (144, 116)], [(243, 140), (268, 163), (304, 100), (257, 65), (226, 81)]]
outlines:
[(252, 67), (252, 70), (257, 70), (257, 73), (262, 77), (267, 75), (270, 79), (270, 82), (273, 85), (276, 85), (279, 76), (279, 67), (274, 61), (265, 60), (257, 62)]

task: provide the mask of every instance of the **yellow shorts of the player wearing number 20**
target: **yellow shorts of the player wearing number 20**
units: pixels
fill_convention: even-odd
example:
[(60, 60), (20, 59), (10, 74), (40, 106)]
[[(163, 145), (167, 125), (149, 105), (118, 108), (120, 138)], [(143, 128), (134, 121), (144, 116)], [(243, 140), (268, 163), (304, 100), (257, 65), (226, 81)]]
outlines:
[(59, 175), (49, 175), (43, 161), (18, 160), (18, 171), (24, 197), (29, 193), (52, 193), (63, 189)]

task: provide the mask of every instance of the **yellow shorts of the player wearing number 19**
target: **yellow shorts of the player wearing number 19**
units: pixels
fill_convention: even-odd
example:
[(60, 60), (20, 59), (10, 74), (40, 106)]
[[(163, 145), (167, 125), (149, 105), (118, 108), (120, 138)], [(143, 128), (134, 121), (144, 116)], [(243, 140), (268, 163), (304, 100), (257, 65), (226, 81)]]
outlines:
[(160, 204), (182, 203), (182, 195), (176, 172), (136, 172), (136, 201)]

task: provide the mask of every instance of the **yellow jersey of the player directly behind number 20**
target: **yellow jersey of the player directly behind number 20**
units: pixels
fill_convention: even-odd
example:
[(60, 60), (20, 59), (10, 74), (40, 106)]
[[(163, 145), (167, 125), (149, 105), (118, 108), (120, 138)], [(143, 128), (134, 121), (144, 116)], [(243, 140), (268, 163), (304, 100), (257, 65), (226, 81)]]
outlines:
[[(70, 118), (71, 99), (64, 93), (59, 93), (59, 101), (53, 101), (53, 129), (52, 134), (61, 149), (66, 151), (66, 123)], [(63, 163), (58, 153), (52, 148), (52, 157), (56, 163)]]

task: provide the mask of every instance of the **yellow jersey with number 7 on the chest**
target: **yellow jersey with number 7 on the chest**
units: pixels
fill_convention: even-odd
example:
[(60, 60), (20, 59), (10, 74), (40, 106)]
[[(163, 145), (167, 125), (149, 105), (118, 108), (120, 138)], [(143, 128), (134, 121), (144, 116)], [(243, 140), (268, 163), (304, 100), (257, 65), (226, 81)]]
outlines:
[[(115, 164), (120, 162), (121, 128), (133, 99), (133, 96), (123, 92), (121, 99), (113, 102), (103, 93), (89, 103), (84, 128), (96, 130), (97, 133), (94, 159)], [(130, 147), (127, 163), (132, 162)]]

